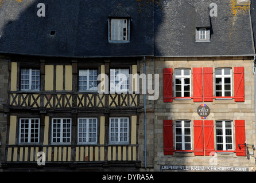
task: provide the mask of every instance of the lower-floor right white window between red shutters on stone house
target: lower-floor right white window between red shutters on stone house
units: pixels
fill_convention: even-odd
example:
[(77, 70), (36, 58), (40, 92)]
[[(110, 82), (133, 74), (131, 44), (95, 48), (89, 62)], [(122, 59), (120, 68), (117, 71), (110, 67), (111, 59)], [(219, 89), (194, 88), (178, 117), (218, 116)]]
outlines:
[(216, 121), (217, 150), (234, 150), (232, 121)]

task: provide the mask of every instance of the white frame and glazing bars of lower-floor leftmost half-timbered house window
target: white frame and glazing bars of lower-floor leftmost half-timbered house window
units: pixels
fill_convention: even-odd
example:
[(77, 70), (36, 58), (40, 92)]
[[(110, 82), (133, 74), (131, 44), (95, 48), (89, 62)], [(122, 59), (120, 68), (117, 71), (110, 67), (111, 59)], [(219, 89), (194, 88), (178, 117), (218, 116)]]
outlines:
[[(25, 131), (25, 126), (24, 128), (22, 128), (22, 120), (28, 120), (28, 132)], [(38, 120), (38, 128), (32, 128), (32, 120)], [(24, 124), (25, 125), (25, 124)], [(37, 142), (31, 142), (32, 138), (34, 138), (34, 140), (36, 139), (36, 137), (32, 137), (32, 130), (36, 130), (37, 129)], [(22, 132), (24, 130), (24, 132)], [(21, 142), (21, 139), (24, 139), (25, 137), (21, 137), (22, 134), (28, 134), (28, 142)], [(34, 132), (34, 134), (36, 134), (36, 132)], [(38, 144), (40, 141), (40, 118), (20, 118), (20, 130), (19, 130), (19, 144)]]

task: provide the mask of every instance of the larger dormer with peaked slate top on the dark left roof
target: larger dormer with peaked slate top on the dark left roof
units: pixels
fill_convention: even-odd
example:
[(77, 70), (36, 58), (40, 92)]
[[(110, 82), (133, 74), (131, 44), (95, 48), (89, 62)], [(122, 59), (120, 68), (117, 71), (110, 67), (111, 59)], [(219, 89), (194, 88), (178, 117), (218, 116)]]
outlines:
[(130, 41), (130, 15), (121, 3), (108, 15), (108, 42), (125, 43)]

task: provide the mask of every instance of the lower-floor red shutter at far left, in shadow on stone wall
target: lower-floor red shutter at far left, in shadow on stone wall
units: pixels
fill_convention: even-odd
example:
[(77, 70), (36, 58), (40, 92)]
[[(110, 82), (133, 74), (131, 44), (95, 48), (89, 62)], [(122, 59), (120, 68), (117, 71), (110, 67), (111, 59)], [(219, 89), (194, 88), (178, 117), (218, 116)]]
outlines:
[(164, 120), (164, 155), (173, 154), (172, 120)]

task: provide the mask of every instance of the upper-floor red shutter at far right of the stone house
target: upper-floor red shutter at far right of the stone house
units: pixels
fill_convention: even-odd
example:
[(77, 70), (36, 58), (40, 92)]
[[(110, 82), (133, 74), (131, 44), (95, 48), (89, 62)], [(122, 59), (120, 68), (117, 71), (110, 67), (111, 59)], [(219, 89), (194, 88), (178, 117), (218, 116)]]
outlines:
[(234, 68), (235, 102), (245, 102), (245, 74), (243, 67)]

